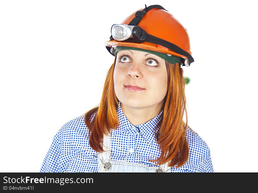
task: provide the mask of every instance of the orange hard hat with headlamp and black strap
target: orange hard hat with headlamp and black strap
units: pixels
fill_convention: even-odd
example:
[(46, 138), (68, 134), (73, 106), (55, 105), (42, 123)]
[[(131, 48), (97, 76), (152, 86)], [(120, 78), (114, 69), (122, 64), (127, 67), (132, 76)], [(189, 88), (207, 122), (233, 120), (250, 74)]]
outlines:
[[(190, 66), (194, 61), (187, 30), (160, 5), (145, 5), (144, 9), (135, 11), (121, 24), (114, 24), (111, 34), (110, 40), (104, 44), (113, 55), (116, 46), (126, 46), (184, 58), (183, 66)], [(127, 35), (127, 39), (121, 39), (123, 34)]]

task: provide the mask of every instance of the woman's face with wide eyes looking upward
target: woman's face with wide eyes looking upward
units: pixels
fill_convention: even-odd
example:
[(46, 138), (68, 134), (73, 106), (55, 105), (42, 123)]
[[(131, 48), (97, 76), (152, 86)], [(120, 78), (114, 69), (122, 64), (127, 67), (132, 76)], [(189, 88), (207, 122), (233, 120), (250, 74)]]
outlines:
[(113, 76), (116, 97), (123, 105), (131, 108), (162, 105), (167, 93), (164, 59), (147, 52), (120, 50)]

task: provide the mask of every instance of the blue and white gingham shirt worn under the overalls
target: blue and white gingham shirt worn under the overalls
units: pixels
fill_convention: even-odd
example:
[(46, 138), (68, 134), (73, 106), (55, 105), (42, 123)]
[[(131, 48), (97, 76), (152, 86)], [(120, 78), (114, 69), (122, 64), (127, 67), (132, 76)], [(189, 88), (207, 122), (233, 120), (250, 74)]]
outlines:
[[(154, 160), (161, 153), (154, 132), (162, 112), (146, 123), (133, 125), (125, 117), (119, 102), (119, 127), (111, 130), (111, 160), (155, 166), (157, 162), (147, 159)], [(205, 141), (189, 127), (186, 140), (189, 159), (183, 166), (172, 168), (171, 172), (213, 172), (210, 149)], [(89, 146), (84, 116), (79, 116), (57, 131), (40, 172), (98, 172), (97, 153)]]

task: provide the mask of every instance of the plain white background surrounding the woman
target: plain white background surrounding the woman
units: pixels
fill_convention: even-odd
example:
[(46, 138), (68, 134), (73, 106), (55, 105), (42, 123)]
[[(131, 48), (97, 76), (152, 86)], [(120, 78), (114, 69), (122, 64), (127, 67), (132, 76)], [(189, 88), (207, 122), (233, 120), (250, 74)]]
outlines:
[(208, 144), (214, 171), (258, 172), (254, 2), (0, 1), (0, 172), (39, 172), (58, 129), (99, 104), (114, 60), (103, 43), (145, 4), (188, 30), (188, 124)]

